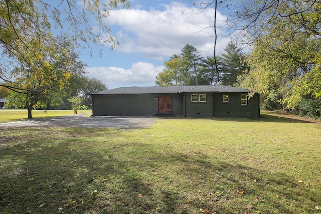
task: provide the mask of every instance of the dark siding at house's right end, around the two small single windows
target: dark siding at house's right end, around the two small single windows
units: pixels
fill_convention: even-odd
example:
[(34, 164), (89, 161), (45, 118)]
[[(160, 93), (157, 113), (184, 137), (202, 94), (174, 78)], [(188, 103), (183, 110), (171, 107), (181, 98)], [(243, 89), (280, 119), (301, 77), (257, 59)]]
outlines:
[[(223, 95), (229, 95), (229, 102), (223, 102)], [(214, 117), (244, 117), (258, 119), (260, 115), (259, 94), (248, 99), (247, 105), (241, 105), (241, 94), (247, 93), (216, 93), (214, 94)]]

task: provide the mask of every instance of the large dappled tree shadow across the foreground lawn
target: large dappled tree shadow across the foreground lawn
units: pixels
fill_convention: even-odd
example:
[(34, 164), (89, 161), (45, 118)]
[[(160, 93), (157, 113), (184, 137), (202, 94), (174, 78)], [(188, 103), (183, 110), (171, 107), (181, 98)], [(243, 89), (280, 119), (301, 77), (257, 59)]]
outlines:
[(300, 213), (321, 201), (287, 174), (205, 152), (40, 138), (0, 147), (1, 213)]

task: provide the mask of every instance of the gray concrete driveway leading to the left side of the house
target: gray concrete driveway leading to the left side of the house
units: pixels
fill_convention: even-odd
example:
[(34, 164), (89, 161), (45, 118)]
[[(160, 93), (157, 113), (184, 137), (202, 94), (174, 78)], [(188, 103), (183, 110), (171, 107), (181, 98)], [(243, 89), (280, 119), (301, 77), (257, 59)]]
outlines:
[(116, 117), (75, 114), (62, 117), (36, 118), (0, 123), (0, 128), (11, 127), (71, 127), (71, 128), (145, 128), (156, 122), (156, 117)]

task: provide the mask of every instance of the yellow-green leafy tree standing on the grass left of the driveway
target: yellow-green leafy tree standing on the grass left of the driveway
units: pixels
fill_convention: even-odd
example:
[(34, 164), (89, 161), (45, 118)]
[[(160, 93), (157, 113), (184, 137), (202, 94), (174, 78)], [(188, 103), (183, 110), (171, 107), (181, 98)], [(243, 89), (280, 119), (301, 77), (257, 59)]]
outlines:
[(9, 104), (27, 108), (28, 118), (32, 118), (34, 108), (47, 109), (48, 103), (51, 106), (61, 105), (63, 88), (69, 84), (70, 77), (76, 75), (78, 65), (83, 66), (77, 61), (78, 55), (74, 53), (71, 41), (58, 37), (54, 42), (45, 52), (37, 46), (29, 52), (26, 50), (24, 61), (11, 72), (14, 82), (7, 83), (12, 90)]

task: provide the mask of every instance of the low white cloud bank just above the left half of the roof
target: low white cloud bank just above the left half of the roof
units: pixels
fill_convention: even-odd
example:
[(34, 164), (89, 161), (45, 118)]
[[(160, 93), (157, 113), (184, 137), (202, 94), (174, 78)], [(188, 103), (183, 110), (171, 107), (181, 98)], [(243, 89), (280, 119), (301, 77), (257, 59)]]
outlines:
[(150, 63), (133, 63), (125, 70), (116, 67), (87, 68), (87, 76), (105, 83), (109, 89), (131, 86), (154, 86), (155, 77), (162, 72), (163, 66), (155, 67)]

